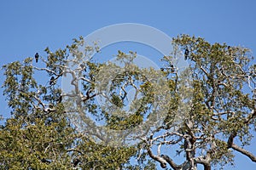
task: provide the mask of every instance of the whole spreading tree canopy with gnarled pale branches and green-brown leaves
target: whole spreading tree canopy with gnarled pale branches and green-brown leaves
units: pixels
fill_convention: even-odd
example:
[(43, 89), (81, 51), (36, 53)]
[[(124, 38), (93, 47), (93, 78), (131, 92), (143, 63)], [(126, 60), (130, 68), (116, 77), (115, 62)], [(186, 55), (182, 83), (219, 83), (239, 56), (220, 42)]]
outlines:
[[(158, 162), (211, 169), (232, 163), (234, 151), (256, 161), (243, 149), (256, 130), (256, 65), (249, 49), (188, 35), (172, 43), (160, 71), (135, 65), (135, 52), (96, 63), (99, 48), (83, 37), (55, 52), (46, 48), (47, 57), (38, 61), (43, 67), (32, 58), (3, 65), (12, 117), (0, 128), (0, 167), (155, 169)], [(176, 61), (183, 52), (189, 67), (181, 71)], [(65, 77), (70, 92), (59, 85)], [(129, 145), (129, 138), (137, 142)]]

